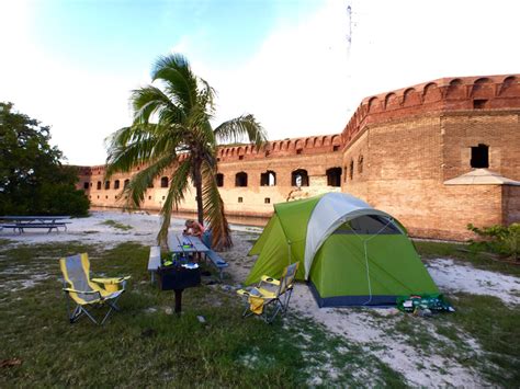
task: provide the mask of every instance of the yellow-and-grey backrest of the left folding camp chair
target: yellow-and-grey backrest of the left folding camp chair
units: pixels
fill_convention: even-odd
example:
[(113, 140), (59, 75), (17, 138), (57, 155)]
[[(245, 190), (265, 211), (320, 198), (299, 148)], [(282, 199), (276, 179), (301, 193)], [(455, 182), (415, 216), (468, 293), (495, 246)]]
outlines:
[[(90, 282), (90, 261), (87, 253), (61, 258), (59, 260), (59, 266), (61, 267), (65, 281), (72, 289), (82, 291), (98, 290), (98, 288), (93, 288)], [(70, 293), (69, 295), (79, 304), (97, 300), (99, 298), (97, 294)]]

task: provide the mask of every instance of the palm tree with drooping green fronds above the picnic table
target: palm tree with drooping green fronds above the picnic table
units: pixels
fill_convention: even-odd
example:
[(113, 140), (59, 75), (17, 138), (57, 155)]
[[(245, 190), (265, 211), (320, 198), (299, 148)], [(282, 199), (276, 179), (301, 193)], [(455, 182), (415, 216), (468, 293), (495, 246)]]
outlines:
[(247, 138), (260, 148), (265, 131), (252, 115), (213, 128), (210, 121), (215, 91), (192, 72), (182, 55), (159, 57), (151, 71), (151, 82), (159, 85), (149, 84), (132, 92), (132, 126), (121, 128), (108, 139), (106, 176), (145, 165), (124, 188), (126, 206), (138, 207), (154, 179), (172, 172), (160, 210), (162, 221), (157, 240), (161, 243), (166, 242), (171, 213), (184, 199), (191, 179), (199, 222), (204, 222), (204, 216), (207, 218), (215, 247), (230, 247), (229, 227), (215, 179), (217, 144)]

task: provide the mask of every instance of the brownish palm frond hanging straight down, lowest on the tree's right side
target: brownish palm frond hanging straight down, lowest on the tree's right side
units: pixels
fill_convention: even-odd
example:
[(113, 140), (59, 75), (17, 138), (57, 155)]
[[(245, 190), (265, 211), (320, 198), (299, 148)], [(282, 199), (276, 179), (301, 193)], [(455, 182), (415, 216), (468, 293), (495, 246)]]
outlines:
[(212, 229), (212, 245), (217, 250), (230, 248), (233, 245), (231, 231), (224, 214), (224, 202), (218, 192), (215, 170), (206, 161), (202, 164), (202, 201), (204, 215)]

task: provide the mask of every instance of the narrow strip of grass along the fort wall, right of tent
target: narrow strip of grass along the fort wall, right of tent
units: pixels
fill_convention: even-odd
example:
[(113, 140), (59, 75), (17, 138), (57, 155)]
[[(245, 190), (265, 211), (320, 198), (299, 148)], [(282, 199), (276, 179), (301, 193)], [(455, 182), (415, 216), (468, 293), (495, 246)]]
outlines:
[(414, 244), (419, 255), (426, 261), (437, 258), (449, 258), (459, 262), (471, 263), (477, 268), (520, 276), (519, 265), (493, 260), (484, 253), (471, 251), (468, 244), (422, 240), (415, 240)]

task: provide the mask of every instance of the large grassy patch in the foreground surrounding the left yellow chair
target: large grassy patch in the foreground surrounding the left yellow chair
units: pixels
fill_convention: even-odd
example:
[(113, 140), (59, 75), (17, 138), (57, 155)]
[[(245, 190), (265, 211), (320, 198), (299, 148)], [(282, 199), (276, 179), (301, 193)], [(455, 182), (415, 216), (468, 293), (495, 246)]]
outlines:
[[(2, 369), (0, 387), (296, 387), (308, 386), (315, 375), (323, 386), (404, 385), (377, 358), (310, 320), (290, 316), (268, 325), (241, 319), (240, 300), (219, 285), (186, 289), (183, 313), (167, 314), (173, 293), (150, 285), (148, 250), (137, 243), (102, 250), (81, 242), (3, 250), (4, 271), (25, 272), (13, 272), (13, 282), (42, 268), (48, 277), (15, 293), (0, 289), (0, 359), (23, 362)], [(83, 251), (94, 274), (132, 276), (122, 311), (104, 327), (87, 318), (69, 324), (65, 313), (56, 259)]]

